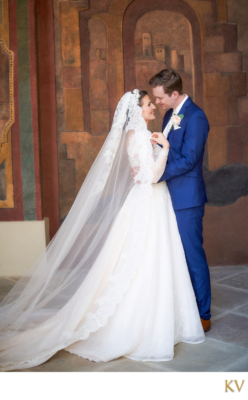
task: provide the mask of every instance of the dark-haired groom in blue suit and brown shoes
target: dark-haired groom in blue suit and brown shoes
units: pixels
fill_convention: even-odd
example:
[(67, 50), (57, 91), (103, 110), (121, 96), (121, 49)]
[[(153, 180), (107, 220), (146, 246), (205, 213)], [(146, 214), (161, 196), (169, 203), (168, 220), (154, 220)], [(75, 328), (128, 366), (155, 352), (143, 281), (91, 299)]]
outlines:
[[(202, 217), (208, 201), (202, 175), (209, 125), (204, 112), (182, 92), (182, 80), (171, 68), (149, 81), (156, 104), (168, 110), (162, 132), (169, 141), (165, 171), (159, 180), (169, 188), (204, 332), (210, 330), (210, 276), (202, 248)], [(154, 143), (154, 141), (152, 141)]]

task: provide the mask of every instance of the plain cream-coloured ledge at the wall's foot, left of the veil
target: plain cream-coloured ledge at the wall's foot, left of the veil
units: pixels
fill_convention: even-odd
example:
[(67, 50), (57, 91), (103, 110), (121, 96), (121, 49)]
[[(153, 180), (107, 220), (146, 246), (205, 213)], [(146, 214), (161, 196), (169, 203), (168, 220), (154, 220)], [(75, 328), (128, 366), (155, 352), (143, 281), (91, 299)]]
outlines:
[(48, 243), (48, 218), (42, 221), (0, 222), (0, 275), (23, 275)]

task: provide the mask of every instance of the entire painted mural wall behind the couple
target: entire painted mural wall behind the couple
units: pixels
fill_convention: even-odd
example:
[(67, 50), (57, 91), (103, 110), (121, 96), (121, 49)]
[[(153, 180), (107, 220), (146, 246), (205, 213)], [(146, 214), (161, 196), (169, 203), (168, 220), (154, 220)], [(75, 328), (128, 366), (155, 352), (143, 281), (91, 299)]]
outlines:
[[(137, 87), (152, 96), (149, 78), (172, 67), (210, 123), (208, 262), (246, 263), (244, 7), (244, 0), (0, 0), (0, 220), (43, 223), (43, 239), (49, 222), (52, 238), (123, 93)], [(163, 114), (157, 107), (150, 130), (161, 130)]]

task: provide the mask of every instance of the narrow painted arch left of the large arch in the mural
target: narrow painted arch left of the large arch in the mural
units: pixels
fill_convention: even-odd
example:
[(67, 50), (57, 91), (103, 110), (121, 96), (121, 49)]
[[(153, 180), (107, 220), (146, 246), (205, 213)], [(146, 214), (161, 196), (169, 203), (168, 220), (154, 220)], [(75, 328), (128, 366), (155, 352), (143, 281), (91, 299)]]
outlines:
[(109, 132), (107, 28), (97, 17), (85, 15), (83, 12), (80, 13), (79, 26), (84, 130), (92, 135), (99, 135), (102, 130)]

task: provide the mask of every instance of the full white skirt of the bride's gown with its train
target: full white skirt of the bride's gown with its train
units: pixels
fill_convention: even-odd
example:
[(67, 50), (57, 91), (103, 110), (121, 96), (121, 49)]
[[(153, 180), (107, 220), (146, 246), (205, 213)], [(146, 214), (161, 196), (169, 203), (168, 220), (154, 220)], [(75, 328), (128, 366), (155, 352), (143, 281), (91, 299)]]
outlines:
[[(71, 300), (45, 322), (34, 316), (33, 327), (0, 342), (2, 370), (39, 365), (61, 349), (96, 362), (169, 361), (175, 344), (204, 342), (166, 182), (151, 185), (149, 207), (142, 199), (137, 183)], [(133, 266), (129, 260), (126, 269), (130, 254)]]

